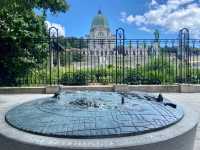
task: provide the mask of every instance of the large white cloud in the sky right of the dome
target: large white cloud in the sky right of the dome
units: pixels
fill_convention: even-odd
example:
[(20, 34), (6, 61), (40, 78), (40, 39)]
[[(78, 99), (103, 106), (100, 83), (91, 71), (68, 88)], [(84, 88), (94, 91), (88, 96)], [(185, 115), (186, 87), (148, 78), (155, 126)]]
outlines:
[[(139, 29), (161, 27), (168, 32), (178, 32), (181, 28), (189, 28), (192, 36), (200, 38), (200, 4), (195, 0), (168, 0), (158, 4), (152, 0), (150, 10), (143, 15), (121, 15), (125, 23), (135, 24)], [(149, 29), (150, 30), (150, 29)], [(148, 30), (146, 30), (148, 32)]]

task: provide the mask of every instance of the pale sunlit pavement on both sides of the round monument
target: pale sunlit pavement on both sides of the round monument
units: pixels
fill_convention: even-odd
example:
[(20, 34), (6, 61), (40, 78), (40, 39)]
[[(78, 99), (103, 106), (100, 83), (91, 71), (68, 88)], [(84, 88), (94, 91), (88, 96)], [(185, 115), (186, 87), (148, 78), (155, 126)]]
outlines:
[[(174, 100), (177, 101), (178, 103), (183, 103), (188, 105), (194, 111), (200, 114), (200, 93), (195, 93), (195, 94), (167, 93), (163, 95), (170, 100)], [(46, 96), (49, 95), (41, 95), (41, 94), (0, 95), (0, 105), (1, 107), (8, 105), (10, 106), (18, 105), (28, 100), (33, 100), (36, 98), (41, 98)], [(197, 131), (194, 150), (200, 150), (200, 125)]]

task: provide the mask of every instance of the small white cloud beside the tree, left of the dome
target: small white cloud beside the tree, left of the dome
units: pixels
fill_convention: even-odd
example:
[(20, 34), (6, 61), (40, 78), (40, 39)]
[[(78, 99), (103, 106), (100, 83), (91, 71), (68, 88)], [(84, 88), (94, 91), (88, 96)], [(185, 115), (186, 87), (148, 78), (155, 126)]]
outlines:
[[(55, 27), (58, 29), (58, 36), (65, 36), (65, 28), (61, 24), (52, 23), (49, 21), (45, 21), (47, 28)], [(56, 31), (54, 29), (51, 30), (51, 36), (56, 36)]]

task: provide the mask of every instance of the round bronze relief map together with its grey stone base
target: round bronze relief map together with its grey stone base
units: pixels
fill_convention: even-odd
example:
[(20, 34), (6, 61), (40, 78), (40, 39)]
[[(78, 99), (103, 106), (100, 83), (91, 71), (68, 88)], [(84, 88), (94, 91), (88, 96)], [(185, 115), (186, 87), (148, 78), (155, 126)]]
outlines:
[(192, 150), (197, 119), (188, 113), (162, 95), (60, 91), (7, 111), (4, 124), (12, 133), (5, 136), (15, 150)]

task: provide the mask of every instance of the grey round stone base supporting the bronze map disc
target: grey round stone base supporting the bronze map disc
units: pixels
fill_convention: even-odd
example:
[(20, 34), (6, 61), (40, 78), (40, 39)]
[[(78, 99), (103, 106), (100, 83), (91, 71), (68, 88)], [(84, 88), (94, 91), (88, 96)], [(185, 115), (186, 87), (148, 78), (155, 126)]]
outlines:
[[(119, 93), (117, 93), (119, 94)], [(134, 93), (135, 94), (135, 93)], [(100, 94), (102, 95), (102, 93)], [(121, 96), (121, 95), (120, 95)], [(145, 97), (143, 94), (140, 97)], [(102, 96), (103, 97), (103, 96)], [(147, 102), (155, 102), (157, 97), (151, 98)], [(52, 97), (51, 97), (52, 98)], [(44, 99), (43, 99), (44, 100)], [(114, 99), (115, 101), (116, 98)], [(125, 103), (128, 99), (125, 98)], [(44, 100), (46, 101), (46, 100)], [(134, 101), (134, 100), (133, 100)], [(145, 100), (146, 101), (146, 100)], [(35, 100), (33, 102), (27, 102), (23, 105), (38, 103), (41, 100)], [(62, 102), (62, 101), (61, 101)], [(111, 110), (123, 109), (126, 104), (121, 107), (121, 99), (110, 107), (109, 103), (96, 103), (94, 101), (73, 101), (70, 106), (75, 106), (75, 109), (104, 109), (112, 108)], [(90, 104), (88, 104), (88, 102)], [(98, 102), (98, 101), (97, 101)], [(95, 103), (98, 104), (95, 106)], [(135, 101), (134, 101), (135, 103)], [(159, 105), (160, 102), (155, 102)], [(164, 100), (162, 103), (169, 103), (168, 100)], [(43, 104), (43, 103), (39, 103)], [(59, 103), (62, 104), (63, 103)], [(66, 103), (64, 103), (66, 105)], [(68, 103), (69, 104), (69, 103)], [(88, 105), (87, 105), (88, 104)], [(86, 107), (87, 105), (87, 107)], [(103, 105), (103, 106), (102, 106)], [(20, 107), (14, 107), (14, 109)], [(108, 107), (109, 106), (109, 107)], [(169, 107), (169, 106), (167, 106)], [(170, 106), (171, 107), (171, 106)], [(169, 107), (169, 108), (170, 108)], [(18, 129), (11, 126), (11, 123), (5, 121), (5, 116), (14, 109), (5, 107), (1, 111), (0, 115), (0, 145), (5, 150), (68, 150), (68, 149), (130, 149), (130, 150), (192, 150), (194, 144), (194, 137), (196, 133), (196, 127), (198, 123), (198, 116), (195, 112), (187, 108), (186, 106), (178, 108), (178, 116), (180, 117), (172, 124), (164, 126), (162, 128), (152, 129), (150, 131), (142, 130), (143, 132), (132, 132), (131, 134), (124, 134), (118, 132), (118, 134), (108, 135), (93, 135), (93, 136), (80, 136), (78, 133), (75, 136), (57, 136), (57, 135), (42, 135), (41, 133), (32, 133)], [(180, 109), (179, 109), (180, 108)], [(126, 108), (127, 109), (127, 108)], [(134, 107), (135, 110), (137, 110)], [(171, 108), (170, 108), (171, 109)], [(86, 111), (85, 110), (85, 111)], [(139, 110), (139, 109), (138, 109)], [(77, 110), (76, 110), (77, 111)], [(58, 112), (57, 112), (58, 113)], [(177, 115), (176, 114), (176, 115)], [(182, 115), (181, 115), (182, 114)], [(177, 117), (178, 118), (178, 117)], [(146, 119), (145, 119), (146, 120)], [(122, 135), (121, 135), (122, 134)], [(74, 135), (74, 134), (73, 134)]]

